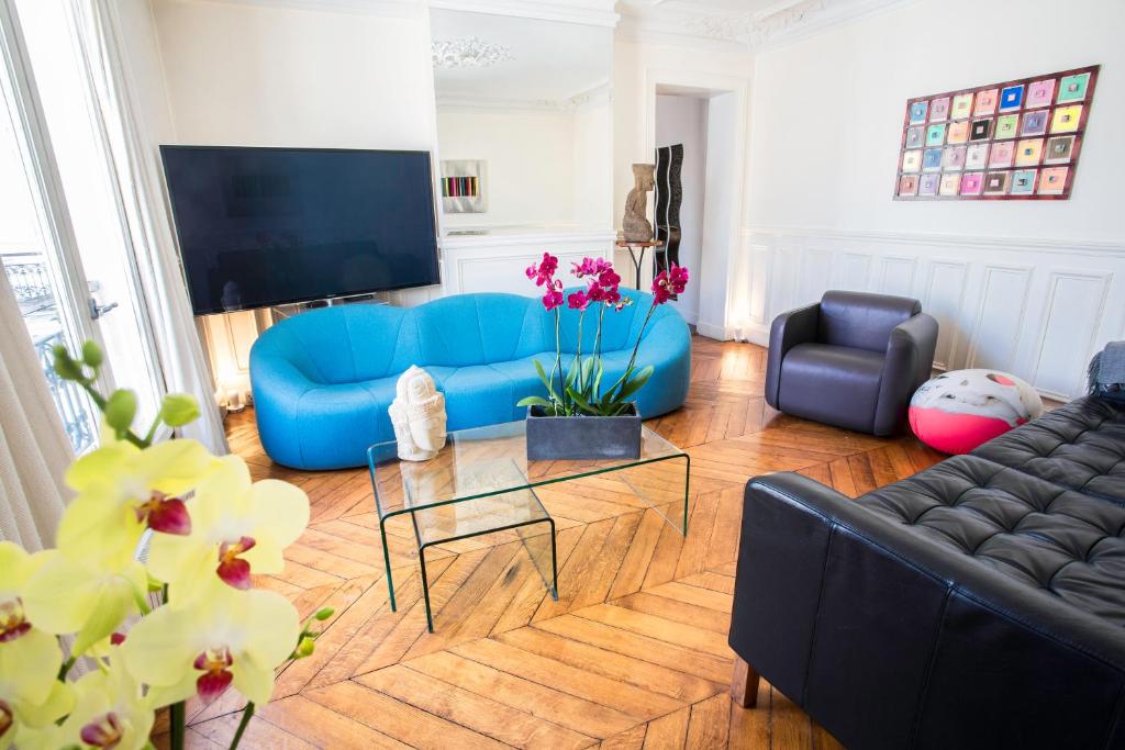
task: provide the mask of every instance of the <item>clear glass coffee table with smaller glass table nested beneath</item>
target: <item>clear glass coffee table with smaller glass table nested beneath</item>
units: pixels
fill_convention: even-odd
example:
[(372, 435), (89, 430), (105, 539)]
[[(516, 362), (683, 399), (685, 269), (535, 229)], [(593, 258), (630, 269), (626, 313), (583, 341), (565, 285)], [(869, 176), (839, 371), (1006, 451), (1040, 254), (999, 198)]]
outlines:
[(397, 609), (397, 603), (390, 553), (387, 550), (386, 522), (394, 516), (410, 514), (414, 525), (426, 625), (431, 633), (433, 613), (430, 608), (425, 551), (436, 544), (513, 531), (519, 535), (551, 596), (558, 599), (555, 521), (536, 494), (537, 487), (659, 461), (682, 460), (683, 518), (680, 517), (678, 508), (669, 517), (662, 509), (668, 505), (667, 501), (655, 503), (627, 475), (621, 475), (621, 478), (638, 497), (660, 513), (669, 525), (680, 533), (687, 534), (691, 458), (664, 437), (642, 426), (638, 459), (529, 461), (524, 426), (524, 422), (508, 422), (450, 432), (446, 446), (429, 461), (399, 461), (398, 448), (394, 441), (376, 443), (368, 449), (368, 468), (379, 515), (379, 536), (392, 612)]

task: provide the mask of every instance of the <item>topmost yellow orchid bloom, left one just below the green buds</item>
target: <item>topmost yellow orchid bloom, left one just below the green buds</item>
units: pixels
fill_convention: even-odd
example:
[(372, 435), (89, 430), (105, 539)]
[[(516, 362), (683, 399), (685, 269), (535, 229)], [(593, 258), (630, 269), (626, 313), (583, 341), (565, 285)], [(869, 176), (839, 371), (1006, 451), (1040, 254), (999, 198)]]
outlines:
[(58, 548), (84, 559), (117, 560), (133, 557), (145, 527), (188, 533), (191, 519), (181, 496), (195, 489), (215, 461), (194, 440), (145, 449), (107, 442), (66, 472), (66, 484), (78, 497), (58, 525)]

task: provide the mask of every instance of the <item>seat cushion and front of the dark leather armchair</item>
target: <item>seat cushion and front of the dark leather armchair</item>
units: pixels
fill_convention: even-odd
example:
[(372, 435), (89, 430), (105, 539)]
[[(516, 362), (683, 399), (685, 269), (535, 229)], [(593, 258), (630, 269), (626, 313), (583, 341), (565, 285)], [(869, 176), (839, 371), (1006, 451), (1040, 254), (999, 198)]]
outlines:
[(798, 344), (782, 361), (778, 408), (814, 422), (870, 432), (883, 355), (848, 346)]

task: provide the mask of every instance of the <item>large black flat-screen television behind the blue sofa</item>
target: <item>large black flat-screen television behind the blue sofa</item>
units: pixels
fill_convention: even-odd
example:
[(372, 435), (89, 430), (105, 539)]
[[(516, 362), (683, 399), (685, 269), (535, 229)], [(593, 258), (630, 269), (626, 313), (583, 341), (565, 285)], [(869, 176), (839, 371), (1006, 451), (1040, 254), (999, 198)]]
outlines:
[(429, 152), (160, 151), (196, 315), (440, 281)]

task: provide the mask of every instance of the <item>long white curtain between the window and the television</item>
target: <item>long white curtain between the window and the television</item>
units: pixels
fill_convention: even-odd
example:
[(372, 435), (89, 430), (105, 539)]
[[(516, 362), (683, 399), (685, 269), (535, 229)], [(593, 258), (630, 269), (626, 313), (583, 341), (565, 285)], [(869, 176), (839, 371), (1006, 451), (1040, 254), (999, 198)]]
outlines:
[(154, 144), (138, 117), (115, 0), (72, 0), (79, 42), (109, 146), (127, 236), (140, 275), (161, 374), (169, 392), (191, 394), (202, 416), (181, 428), (213, 453), (228, 451), (213, 379), (199, 343), (164, 201)]

